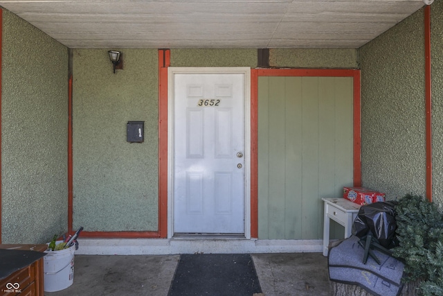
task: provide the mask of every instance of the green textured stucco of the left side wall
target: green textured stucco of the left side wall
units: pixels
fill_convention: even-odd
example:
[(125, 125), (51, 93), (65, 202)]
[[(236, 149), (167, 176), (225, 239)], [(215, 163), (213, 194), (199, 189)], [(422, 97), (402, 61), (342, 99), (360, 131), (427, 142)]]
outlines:
[(46, 243), (67, 231), (68, 50), (3, 10), (3, 243)]

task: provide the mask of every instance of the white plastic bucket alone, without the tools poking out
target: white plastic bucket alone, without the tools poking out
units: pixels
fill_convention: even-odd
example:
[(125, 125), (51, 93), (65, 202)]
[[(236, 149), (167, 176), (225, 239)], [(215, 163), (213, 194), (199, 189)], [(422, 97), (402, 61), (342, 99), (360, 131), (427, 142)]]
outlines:
[[(57, 245), (62, 241), (57, 241)], [(60, 251), (45, 251), (44, 290), (55, 292), (68, 288), (74, 282), (75, 245)]]

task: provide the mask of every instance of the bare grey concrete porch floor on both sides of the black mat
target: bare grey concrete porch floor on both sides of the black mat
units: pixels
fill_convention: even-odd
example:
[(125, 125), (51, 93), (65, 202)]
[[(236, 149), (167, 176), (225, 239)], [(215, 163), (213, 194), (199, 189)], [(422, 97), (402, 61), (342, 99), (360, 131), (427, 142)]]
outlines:
[[(265, 296), (329, 295), (327, 258), (321, 253), (251, 256)], [(45, 295), (166, 296), (179, 258), (180, 255), (75, 255), (73, 285)]]

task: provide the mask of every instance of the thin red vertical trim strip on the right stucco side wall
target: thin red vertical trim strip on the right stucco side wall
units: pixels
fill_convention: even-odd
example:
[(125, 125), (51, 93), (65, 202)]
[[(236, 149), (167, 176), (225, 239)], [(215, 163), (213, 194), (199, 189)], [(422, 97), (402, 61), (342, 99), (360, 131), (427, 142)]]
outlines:
[(431, 6), (424, 8), (425, 109), (426, 109), (426, 198), (432, 202), (432, 85)]

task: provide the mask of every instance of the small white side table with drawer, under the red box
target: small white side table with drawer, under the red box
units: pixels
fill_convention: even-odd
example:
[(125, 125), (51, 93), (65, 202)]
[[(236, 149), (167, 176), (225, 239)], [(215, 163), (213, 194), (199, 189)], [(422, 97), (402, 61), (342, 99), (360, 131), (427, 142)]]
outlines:
[(332, 219), (345, 227), (345, 238), (351, 236), (352, 223), (359, 214), (360, 204), (345, 198), (322, 198), (325, 202), (325, 220), (323, 225), (323, 256), (327, 256), (329, 245), (329, 223)]

